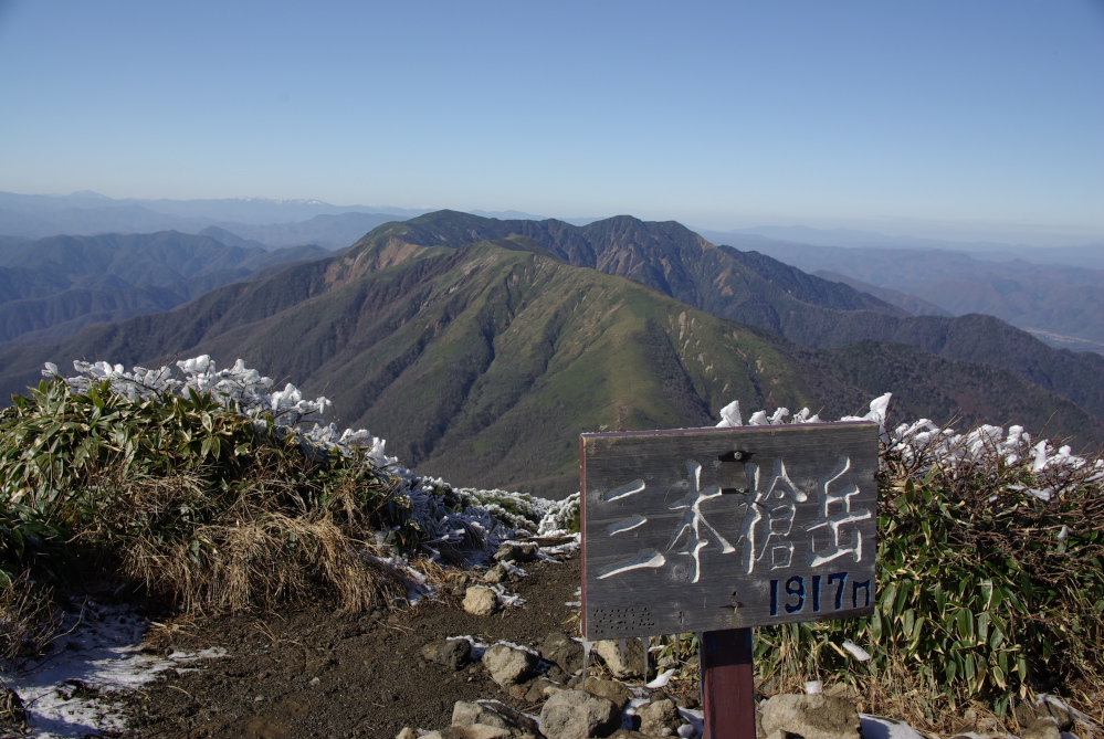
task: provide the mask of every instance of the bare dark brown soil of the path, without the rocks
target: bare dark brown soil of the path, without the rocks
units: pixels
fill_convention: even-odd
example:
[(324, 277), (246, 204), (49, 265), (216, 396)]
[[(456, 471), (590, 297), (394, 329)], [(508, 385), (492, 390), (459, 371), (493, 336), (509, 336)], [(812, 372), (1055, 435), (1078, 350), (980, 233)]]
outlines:
[(379, 737), (403, 727), (443, 729), (458, 700), (494, 698), (526, 712), (539, 705), (502, 690), (480, 663), (459, 672), (420, 656), (435, 638), (470, 635), (539, 647), (553, 631), (578, 633), (578, 553), (523, 566), (509, 589), (526, 600), (491, 616), (469, 614), (445, 595), (409, 609), (341, 616), (323, 604), (158, 627), (146, 648), (228, 656), (196, 671), (167, 671), (126, 700), (124, 737)]

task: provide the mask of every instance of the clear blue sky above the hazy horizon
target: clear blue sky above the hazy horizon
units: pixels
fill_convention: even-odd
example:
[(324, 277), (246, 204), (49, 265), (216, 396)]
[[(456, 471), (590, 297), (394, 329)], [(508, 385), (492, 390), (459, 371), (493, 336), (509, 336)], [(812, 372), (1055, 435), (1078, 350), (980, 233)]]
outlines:
[(1100, 240), (1104, 0), (0, 0), (0, 190), (84, 189)]

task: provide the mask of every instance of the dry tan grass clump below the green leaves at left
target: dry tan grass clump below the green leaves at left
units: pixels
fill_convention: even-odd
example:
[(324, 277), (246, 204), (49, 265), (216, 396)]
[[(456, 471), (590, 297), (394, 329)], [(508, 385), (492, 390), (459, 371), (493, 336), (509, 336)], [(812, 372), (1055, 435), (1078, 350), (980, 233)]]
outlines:
[(319, 597), (358, 612), (406, 593), (399, 574), (374, 559), (372, 517), (351, 486), (319, 503), (311, 499), (318, 490), (270, 474), (221, 495), (196, 475), (101, 482), (114, 487), (109, 505), (81, 536), (106, 543), (125, 580), (185, 613)]

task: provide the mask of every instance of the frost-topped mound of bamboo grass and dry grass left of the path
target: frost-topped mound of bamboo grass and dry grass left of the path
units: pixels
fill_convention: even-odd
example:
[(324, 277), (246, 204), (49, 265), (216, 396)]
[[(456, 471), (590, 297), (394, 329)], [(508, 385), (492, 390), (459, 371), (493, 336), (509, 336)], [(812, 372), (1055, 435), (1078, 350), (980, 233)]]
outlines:
[(359, 611), (407, 592), (397, 556), (482, 561), (550, 507), (420, 477), (368, 432), (318, 423), (326, 398), (240, 360), (74, 367), (49, 365), (0, 412), (9, 657), (48, 638), (53, 587), (122, 582), (203, 613), (318, 595)]

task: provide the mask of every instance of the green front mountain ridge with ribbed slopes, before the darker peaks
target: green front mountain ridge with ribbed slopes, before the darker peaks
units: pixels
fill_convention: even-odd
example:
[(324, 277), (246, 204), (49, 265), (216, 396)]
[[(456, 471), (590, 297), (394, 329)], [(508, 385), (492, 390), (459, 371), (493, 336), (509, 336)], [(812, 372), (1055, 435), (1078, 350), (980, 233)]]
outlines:
[[(748, 411), (809, 405), (838, 418), (893, 390), (910, 411), (940, 421), (958, 412), (947, 403), (936, 403), (946, 418), (924, 410), (925, 393), (937, 388), (903, 388), (917, 379), (907, 362), (862, 374), (886, 363), (881, 345), (847, 361), (821, 356), (633, 281), (568, 265), (524, 236), (420, 246), (419, 256), (393, 260), (387, 249), (371, 258), (395, 263), (361, 264), (357, 277), (347, 254), (229, 285), (168, 313), (91, 326), (59, 345), (0, 351), (0, 391), (33, 381), (48, 360), (149, 366), (211, 353), (225, 365), (243, 357), (334, 398), (341, 424), (383, 435), (391, 454), (421, 472), (550, 495), (576, 489), (580, 432), (712, 424), (733, 399)], [(949, 378), (977, 371), (938, 361)], [(1104, 436), (1068, 401), (979, 367), (1008, 394), (1038, 394), (1043, 413), (1060, 410), (1065, 433)], [(970, 408), (980, 420), (1016, 418), (1005, 401), (979, 393)]]

